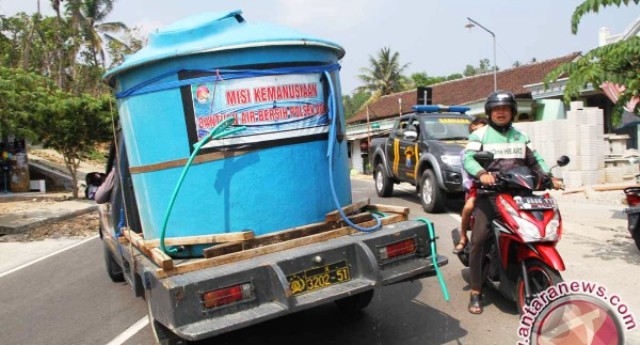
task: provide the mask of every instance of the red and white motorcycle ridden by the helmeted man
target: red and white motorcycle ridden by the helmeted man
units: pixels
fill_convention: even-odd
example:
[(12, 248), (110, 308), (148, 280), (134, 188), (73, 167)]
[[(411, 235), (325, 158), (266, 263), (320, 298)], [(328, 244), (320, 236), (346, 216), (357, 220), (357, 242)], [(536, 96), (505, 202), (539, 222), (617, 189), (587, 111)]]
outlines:
[[(482, 164), (482, 161), (493, 160), (493, 155), (479, 152), (475, 158)], [(569, 157), (562, 156), (556, 166), (567, 164)], [(562, 217), (556, 200), (549, 193), (533, 193), (552, 188), (550, 178), (538, 178), (527, 167), (495, 176), (494, 186), (478, 185), (478, 197), (482, 194), (495, 197), (498, 214), (491, 224), (491, 238), (485, 244), (483, 276), (488, 286), (515, 301), (522, 314), (538, 293), (563, 281), (559, 272), (564, 271), (565, 266), (556, 250), (562, 235)], [(459, 229), (452, 231), (452, 239), (454, 245), (459, 242)], [(469, 267), (469, 250), (467, 245), (458, 253), (466, 267)]]

